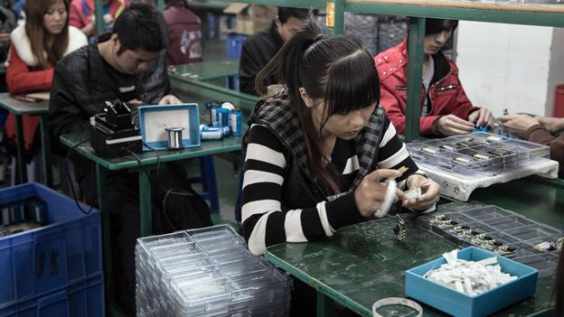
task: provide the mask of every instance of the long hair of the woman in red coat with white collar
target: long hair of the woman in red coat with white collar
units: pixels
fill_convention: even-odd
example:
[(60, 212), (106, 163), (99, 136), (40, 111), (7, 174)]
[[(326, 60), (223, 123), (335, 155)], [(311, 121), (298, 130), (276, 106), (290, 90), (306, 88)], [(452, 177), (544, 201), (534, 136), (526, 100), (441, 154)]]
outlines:
[[(47, 14), (49, 8), (59, 0), (33, 0), (25, 3), (25, 33), (30, 40), (32, 53), (39, 65), (43, 69), (50, 68), (50, 63), (54, 66), (61, 60), (67, 47), (69, 46), (69, 4), (62, 0), (67, 10), (67, 19), (61, 33), (55, 35), (50, 48), (47, 47), (47, 30), (43, 26), (43, 15)], [(47, 53), (47, 58), (43, 55)]]

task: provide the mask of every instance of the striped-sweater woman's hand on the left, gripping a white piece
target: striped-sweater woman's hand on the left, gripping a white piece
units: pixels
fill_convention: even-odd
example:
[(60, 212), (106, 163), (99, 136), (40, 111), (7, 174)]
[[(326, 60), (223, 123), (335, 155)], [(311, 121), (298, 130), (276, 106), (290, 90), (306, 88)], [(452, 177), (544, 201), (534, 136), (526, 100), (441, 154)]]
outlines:
[[(369, 217), (374, 211), (379, 210), (382, 200), (386, 195), (388, 186), (381, 181), (388, 178), (395, 179), (401, 176), (401, 172), (397, 170), (376, 170), (366, 175), (362, 179), (359, 187), (354, 191), (354, 200), (356, 207), (361, 212), (362, 216)], [(396, 193), (394, 201), (398, 200), (399, 195)]]

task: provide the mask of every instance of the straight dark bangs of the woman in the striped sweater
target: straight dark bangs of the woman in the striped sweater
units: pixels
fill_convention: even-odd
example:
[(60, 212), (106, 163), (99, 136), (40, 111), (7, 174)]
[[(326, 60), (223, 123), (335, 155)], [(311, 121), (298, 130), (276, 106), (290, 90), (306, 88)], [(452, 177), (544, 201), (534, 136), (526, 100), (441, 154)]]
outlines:
[(327, 72), (324, 105), (327, 117), (346, 115), (380, 102), (380, 81), (366, 50), (335, 62)]

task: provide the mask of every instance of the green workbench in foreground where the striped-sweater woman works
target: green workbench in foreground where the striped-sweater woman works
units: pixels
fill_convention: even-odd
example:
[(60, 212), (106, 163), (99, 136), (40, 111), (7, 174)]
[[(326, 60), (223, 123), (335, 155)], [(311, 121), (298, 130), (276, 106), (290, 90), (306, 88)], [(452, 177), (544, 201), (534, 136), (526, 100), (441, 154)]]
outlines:
[[(452, 202), (441, 210), (464, 210), (475, 204)], [(404, 272), (442, 256), (457, 246), (434, 233), (416, 228), (406, 217), (407, 236), (398, 240), (394, 217), (371, 220), (341, 228), (333, 238), (308, 243), (283, 243), (268, 247), (268, 261), (314, 287), (317, 315), (333, 315), (333, 301), (371, 316), (372, 303), (386, 297), (404, 296)], [(554, 217), (556, 219), (556, 217)], [(539, 278), (536, 294), (497, 312), (499, 316), (529, 316), (550, 311), (554, 276)], [(424, 316), (442, 316), (424, 306)]]

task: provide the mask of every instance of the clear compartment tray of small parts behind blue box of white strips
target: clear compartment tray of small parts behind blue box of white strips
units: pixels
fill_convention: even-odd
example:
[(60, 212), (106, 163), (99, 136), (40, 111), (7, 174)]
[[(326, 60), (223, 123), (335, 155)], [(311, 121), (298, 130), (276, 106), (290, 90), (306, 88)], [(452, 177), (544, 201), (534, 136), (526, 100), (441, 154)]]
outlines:
[[(495, 206), (441, 212), (418, 217), (418, 226), (433, 231), (461, 247), (475, 246), (506, 256), (539, 270), (539, 276), (554, 275), (558, 247), (564, 231), (540, 224), (510, 210)], [(535, 248), (543, 242), (550, 249)]]

